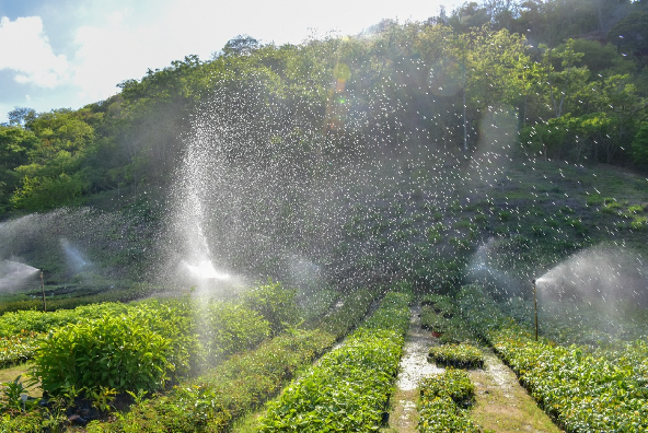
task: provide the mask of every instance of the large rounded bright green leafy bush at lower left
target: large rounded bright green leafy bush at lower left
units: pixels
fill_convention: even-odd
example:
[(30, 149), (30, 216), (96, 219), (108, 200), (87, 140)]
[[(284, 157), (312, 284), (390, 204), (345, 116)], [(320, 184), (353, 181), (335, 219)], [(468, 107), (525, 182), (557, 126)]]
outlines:
[(150, 329), (151, 319), (119, 315), (66, 325), (39, 340), (30, 374), (53, 396), (106, 386), (159, 389), (174, 370), (172, 344)]

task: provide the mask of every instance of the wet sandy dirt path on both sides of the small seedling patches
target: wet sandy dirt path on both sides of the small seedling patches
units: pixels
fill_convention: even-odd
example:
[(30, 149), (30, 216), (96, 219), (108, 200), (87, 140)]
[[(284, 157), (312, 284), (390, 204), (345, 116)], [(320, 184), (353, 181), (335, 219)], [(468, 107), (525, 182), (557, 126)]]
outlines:
[[(421, 329), (419, 308), (412, 308), (409, 331), (405, 340), (404, 355), (396, 389), (392, 396), (389, 426), (384, 433), (416, 433), (418, 423), (417, 384), (420, 378), (443, 372), (427, 361), (431, 346), (438, 340)], [(484, 432), (562, 432), (536, 406), (533, 398), (520, 386), (516, 374), (490, 349), (482, 348), (484, 368), (468, 371), (475, 384), (475, 405), (471, 418)]]

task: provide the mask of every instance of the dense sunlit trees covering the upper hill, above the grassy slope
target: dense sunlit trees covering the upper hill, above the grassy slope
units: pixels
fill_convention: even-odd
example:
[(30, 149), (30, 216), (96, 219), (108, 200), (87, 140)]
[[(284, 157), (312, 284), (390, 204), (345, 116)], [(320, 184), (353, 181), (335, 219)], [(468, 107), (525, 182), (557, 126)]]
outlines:
[(369, 139), (387, 153), (470, 153), (482, 115), (505, 113), (525, 155), (645, 168), (647, 33), (644, 1), (487, 0), (300, 45), (238, 36), (210, 60), (149, 70), (77, 110), (16, 107), (0, 127), (0, 214), (165, 187), (190, 114), (215, 93), (253, 85), (253, 121), (265, 127), (271, 115), (269, 136), (312, 152)]

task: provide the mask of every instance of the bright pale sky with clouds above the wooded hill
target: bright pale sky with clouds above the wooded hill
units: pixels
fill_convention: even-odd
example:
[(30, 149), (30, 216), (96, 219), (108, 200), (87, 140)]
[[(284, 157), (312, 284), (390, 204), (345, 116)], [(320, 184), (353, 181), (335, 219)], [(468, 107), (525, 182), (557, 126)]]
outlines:
[(124, 80), (238, 35), (299, 44), (356, 35), (382, 19), (424, 21), (459, 0), (0, 0), (0, 122), (15, 107), (77, 109)]

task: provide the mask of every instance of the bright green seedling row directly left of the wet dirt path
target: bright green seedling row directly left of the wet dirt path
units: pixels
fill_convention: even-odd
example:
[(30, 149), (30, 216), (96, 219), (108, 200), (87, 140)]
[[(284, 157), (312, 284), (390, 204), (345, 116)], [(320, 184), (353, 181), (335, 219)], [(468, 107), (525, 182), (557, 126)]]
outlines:
[(345, 343), (268, 403), (259, 431), (366, 432), (386, 421), (386, 406), (409, 326), (410, 296), (389, 293)]

